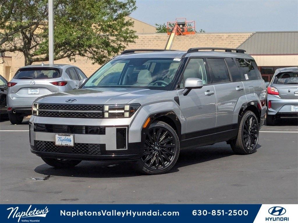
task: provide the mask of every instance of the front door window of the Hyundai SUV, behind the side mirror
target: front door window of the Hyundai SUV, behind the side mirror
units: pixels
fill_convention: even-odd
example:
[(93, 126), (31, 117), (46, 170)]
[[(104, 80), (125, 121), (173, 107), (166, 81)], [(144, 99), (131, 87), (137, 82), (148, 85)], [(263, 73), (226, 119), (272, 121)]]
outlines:
[[(203, 81), (203, 85), (207, 84), (207, 74), (205, 69), (205, 63), (202, 58), (191, 58), (186, 65), (186, 68), (183, 73), (184, 81), (187, 78), (200, 78)], [(184, 83), (180, 84), (180, 88), (184, 87)]]

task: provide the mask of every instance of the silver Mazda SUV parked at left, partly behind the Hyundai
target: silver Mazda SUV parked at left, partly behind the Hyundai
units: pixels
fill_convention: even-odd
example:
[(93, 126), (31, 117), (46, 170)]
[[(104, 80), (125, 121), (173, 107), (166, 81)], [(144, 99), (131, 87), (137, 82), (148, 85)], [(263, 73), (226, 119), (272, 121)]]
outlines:
[(20, 124), (31, 114), (33, 101), (42, 96), (79, 87), (86, 78), (72, 65), (29, 65), (21, 67), (8, 83), (7, 110), (12, 124)]

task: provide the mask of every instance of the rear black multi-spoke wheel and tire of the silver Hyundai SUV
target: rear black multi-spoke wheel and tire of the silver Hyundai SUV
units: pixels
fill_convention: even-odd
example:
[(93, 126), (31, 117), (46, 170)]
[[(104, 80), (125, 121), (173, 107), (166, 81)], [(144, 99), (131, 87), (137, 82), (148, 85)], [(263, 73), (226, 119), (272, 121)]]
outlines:
[(257, 151), (258, 139), (258, 119), (252, 111), (246, 111), (240, 121), (237, 139), (231, 142), (231, 148), (236, 154), (251, 154)]

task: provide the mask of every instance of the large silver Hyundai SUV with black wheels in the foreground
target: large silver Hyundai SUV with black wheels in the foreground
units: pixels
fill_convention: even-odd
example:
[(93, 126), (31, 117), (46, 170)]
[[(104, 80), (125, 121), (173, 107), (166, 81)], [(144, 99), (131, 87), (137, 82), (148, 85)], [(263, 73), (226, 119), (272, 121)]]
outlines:
[(35, 100), (31, 152), (56, 168), (134, 160), (146, 174), (169, 171), (182, 149), (216, 142), (250, 154), (264, 122), (265, 94), (244, 50), (126, 50), (80, 89)]

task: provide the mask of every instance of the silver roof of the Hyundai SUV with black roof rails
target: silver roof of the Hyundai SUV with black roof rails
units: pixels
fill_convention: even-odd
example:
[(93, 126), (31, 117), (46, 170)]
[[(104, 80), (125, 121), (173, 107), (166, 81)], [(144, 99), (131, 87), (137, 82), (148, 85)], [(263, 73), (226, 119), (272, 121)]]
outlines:
[(125, 59), (125, 58), (182, 58), (182, 57), (190, 57), (190, 56), (201, 56), (201, 57), (232, 57), (232, 58), (244, 58), (244, 59), (254, 59), (249, 54), (244, 53), (232, 53), (232, 52), (223, 52), (223, 51), (197, 51), (190, 52), (181, 51), (181, 50), (173, 50), (173, 51), (153, 51), (153, 52), (141, 52), (141, 53), (128, 53), (121, 54), (114, 58), (117, 59)]

